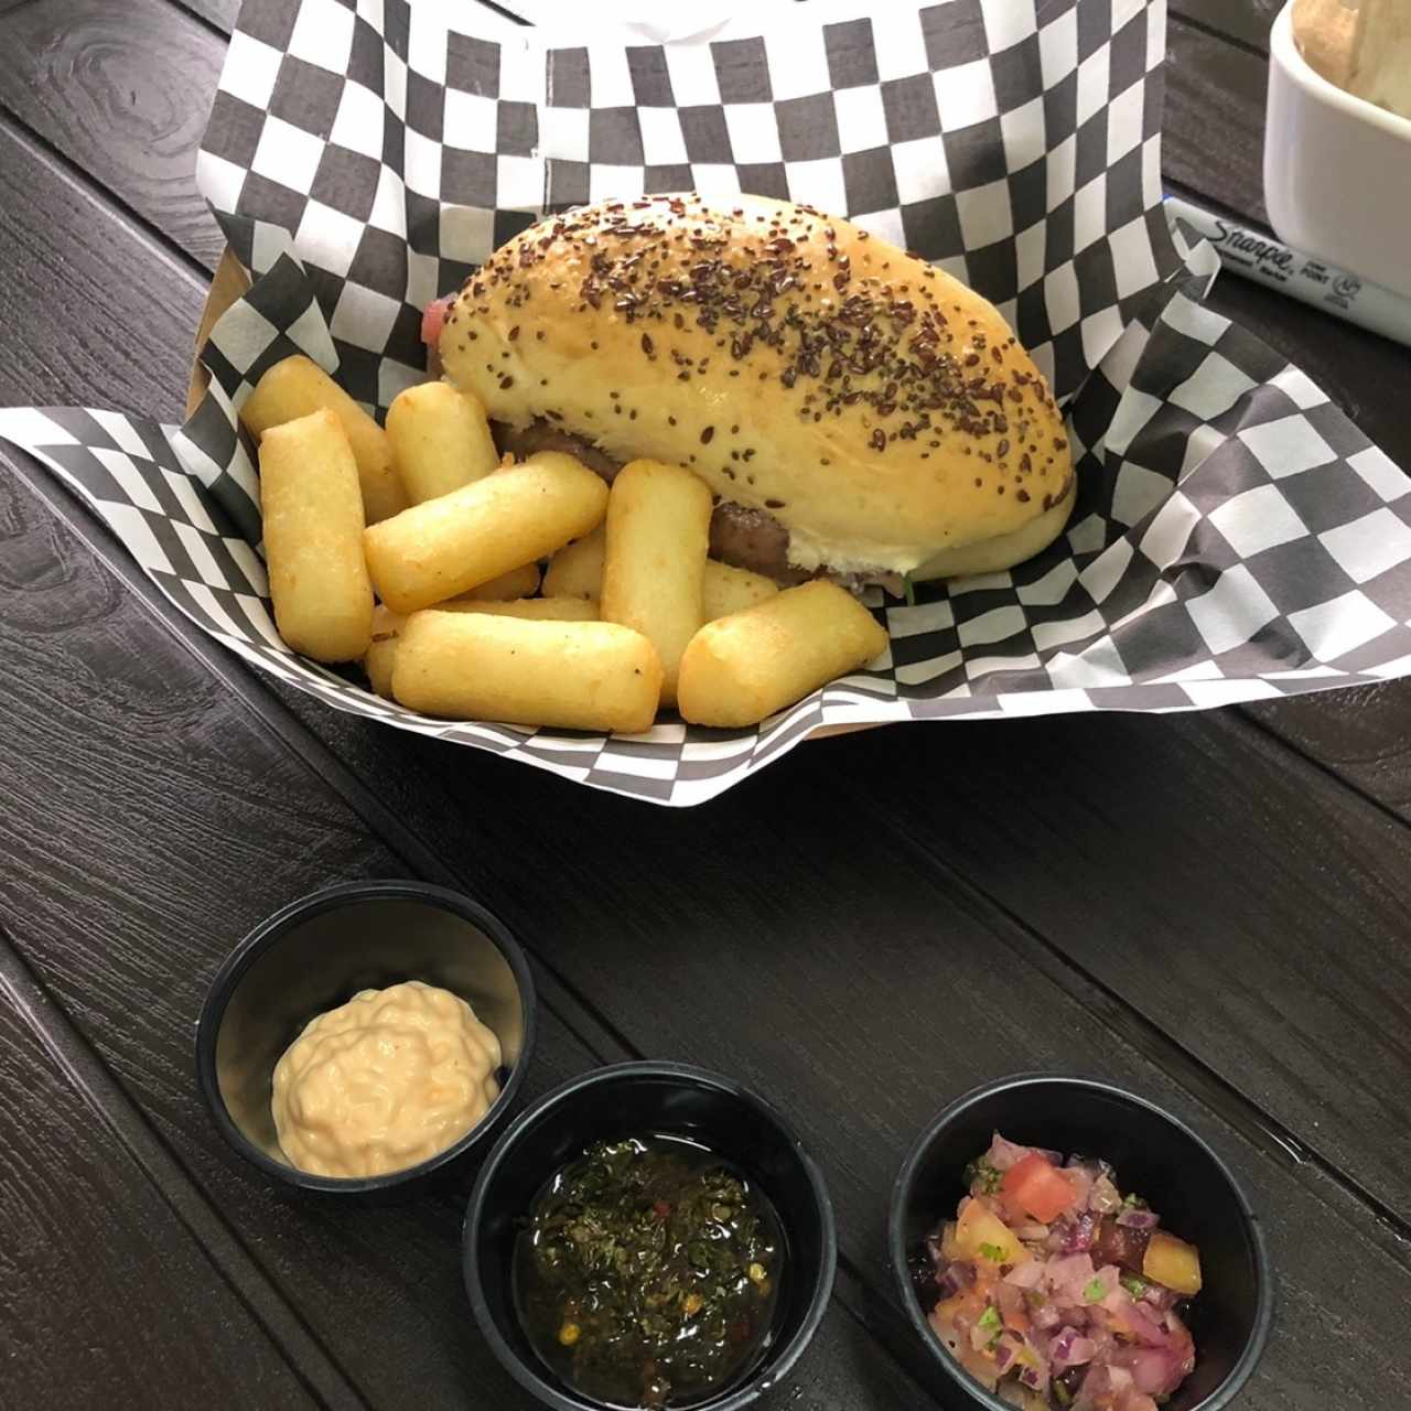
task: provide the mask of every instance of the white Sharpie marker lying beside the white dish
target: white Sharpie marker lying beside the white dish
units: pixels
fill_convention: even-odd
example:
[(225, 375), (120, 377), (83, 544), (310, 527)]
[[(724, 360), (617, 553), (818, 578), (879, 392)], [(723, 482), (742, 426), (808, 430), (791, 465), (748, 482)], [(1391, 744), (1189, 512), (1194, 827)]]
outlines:
[(1215, 247), (1233, 274), (1278, 289), (1335, 319), (1411, 347), (1411, 299), (1379, 284), (1367, 284), (1336, 265), (1280, 244), (1273, 236), (1201, 210), (1177, 196), (1165, 198), (1167, 214), (1184, 220)]

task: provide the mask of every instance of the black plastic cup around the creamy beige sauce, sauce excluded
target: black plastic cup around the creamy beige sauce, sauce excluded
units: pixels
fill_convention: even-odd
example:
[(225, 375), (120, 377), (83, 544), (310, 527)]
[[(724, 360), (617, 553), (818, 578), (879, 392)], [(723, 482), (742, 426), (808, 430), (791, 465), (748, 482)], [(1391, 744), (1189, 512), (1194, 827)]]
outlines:
[[(281, 1054), (316, 1015), (408, 979), (460, 995), (495, 1031), (499, 1096), (459, 1141), (405, 1171), (340, 1178), (289, 1165), (270, 1110)], [(425, 882), (347, 882), (261, 921), (220, 967), (196, 1029), (196, 1081), (220, 1134), (272, 1181), (382, 1204), (470, 1184), (509, 1116), (533, 1043), (533, 981), (504, 923)]]

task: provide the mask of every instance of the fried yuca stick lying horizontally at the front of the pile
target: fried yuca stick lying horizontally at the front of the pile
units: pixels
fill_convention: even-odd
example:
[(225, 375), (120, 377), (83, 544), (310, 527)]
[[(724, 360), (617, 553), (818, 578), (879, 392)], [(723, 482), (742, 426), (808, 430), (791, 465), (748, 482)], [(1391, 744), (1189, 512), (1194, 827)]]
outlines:
[(617, 622), (533, 622), (491, 612), (415, 612), (392, 693), (449, 720), (638, 734), (652, 727), (662, 665)]

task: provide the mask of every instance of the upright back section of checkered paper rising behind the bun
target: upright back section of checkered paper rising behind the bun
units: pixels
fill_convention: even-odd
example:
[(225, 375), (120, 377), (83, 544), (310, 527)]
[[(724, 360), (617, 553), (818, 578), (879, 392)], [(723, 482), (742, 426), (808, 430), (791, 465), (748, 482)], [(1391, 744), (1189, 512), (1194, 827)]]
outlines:
[(1161, 0), (763, 18), (556, 47), (474, 3), (246, 0), (200, 186), (255, 275), (293, 237), (370, 405), (420, 377), (422, 308), (546, 210), (689, 189), (807, 202), (914, 250), (1071, 396), (1171, 262)]

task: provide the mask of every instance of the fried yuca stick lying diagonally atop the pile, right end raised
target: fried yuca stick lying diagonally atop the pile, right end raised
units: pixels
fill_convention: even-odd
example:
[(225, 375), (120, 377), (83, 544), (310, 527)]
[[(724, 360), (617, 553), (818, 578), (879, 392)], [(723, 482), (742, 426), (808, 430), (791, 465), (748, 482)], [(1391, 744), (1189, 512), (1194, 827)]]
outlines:
[(588, 533), (607, 499), (591, 470), (542, 452), (373, 525), (363, 536), (368, 571), (389, 608), (415, 612)]

